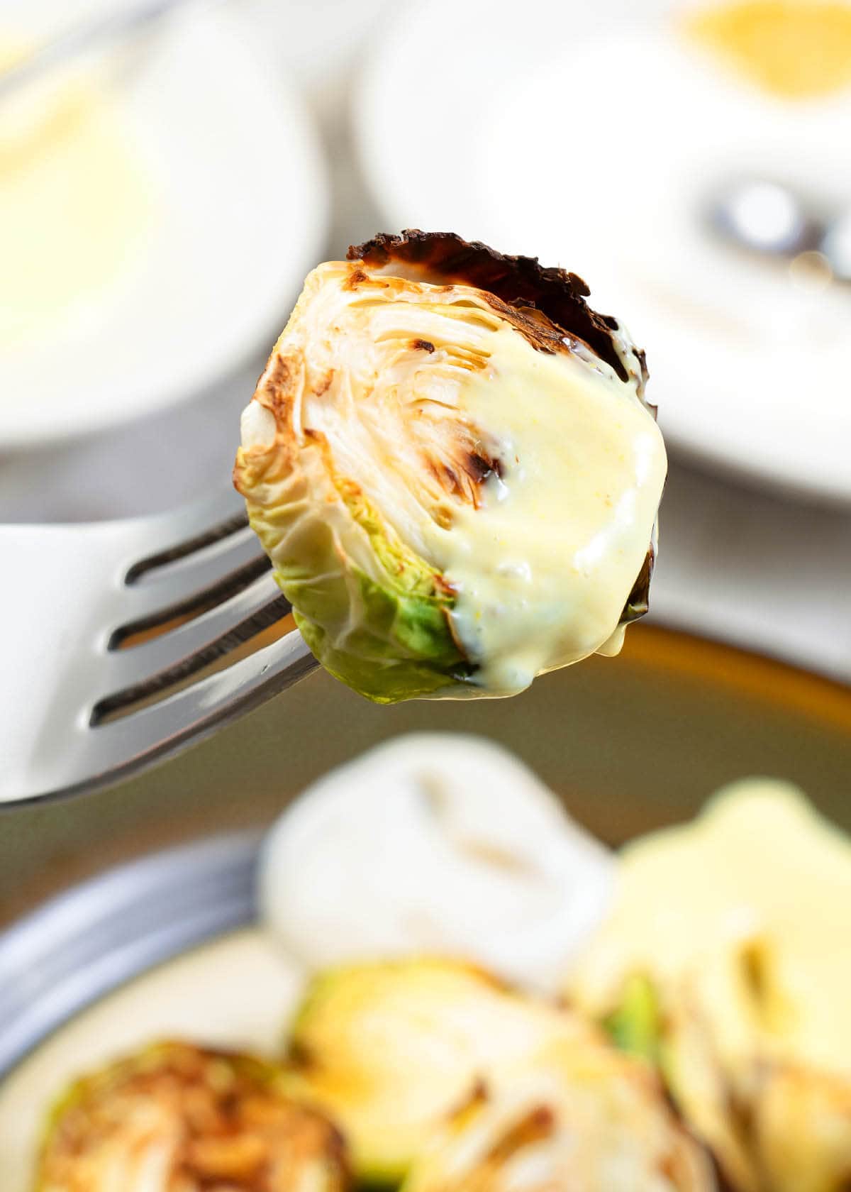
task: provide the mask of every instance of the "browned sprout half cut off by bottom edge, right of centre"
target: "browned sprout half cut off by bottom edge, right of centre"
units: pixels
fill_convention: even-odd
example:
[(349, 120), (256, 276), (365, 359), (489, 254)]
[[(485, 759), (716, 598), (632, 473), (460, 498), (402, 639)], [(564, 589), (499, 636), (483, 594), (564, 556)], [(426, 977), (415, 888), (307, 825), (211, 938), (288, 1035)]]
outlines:
[(652, 1070), (592, 1038), (557, 1041), (487, 1085), (403, 1192), (712, 1192), (707, 1156)]

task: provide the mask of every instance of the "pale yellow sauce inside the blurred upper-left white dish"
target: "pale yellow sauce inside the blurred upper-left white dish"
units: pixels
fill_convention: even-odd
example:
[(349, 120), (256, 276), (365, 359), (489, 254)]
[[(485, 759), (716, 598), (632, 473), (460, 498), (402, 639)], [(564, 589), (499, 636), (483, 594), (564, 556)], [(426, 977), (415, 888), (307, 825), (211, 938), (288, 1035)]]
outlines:
[[(0, 44), (0, 70), (20, 56)], [(143, 244), (145, 182), (94, 79), (45, 79), (0, 106), (0, 349), (103, 298)]]

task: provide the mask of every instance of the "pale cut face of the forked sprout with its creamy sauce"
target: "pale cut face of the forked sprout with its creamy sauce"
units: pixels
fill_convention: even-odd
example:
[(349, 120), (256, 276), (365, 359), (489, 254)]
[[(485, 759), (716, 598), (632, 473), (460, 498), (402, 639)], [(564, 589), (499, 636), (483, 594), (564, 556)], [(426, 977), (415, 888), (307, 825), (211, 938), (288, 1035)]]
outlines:
[[(584, 344), (538, 349), (473, 287), (389, 274), (356, 288), (353, 269), (313, 271), (279, 341), (304, 358), (297, 433), (321, 432), (334, 468), (454, 588), (479, 694), (616, 653), (666, 471), (636, 377), (621, 380)], [(271, 417), (243, 422), (244, 447), (273, 435)], [(498, 460), (476, 503), (441, 488), (459, 442)], [(311, 484), (330, 486), (324, 468), (317, 459)], [(341, 504), (329, 495), (328, 520), (373, 575)]]

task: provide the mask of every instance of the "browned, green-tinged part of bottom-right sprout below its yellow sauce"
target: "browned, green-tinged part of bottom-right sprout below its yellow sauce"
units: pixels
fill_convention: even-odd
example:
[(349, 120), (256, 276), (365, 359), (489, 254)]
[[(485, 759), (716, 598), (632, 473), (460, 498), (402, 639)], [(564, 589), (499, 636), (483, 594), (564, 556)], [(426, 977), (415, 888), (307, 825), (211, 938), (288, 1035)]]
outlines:
[[(664, 1011), (658, 989), (631, 976), (604, 1025), (619, 1047), (658, 1064), (683, 1119), (737, 1192), (846, 1192), (851, 1080), (774, 1058), (758, 1038), (754, 1007), (719, 998), (719, 975), (734, 974), (707, 960), (703, 971), (667, 989)], [(725, 1016), (735, 1014), (723, 1023), (739, 1039), (734, 1061), (720, 1039), (719, 1001)]]

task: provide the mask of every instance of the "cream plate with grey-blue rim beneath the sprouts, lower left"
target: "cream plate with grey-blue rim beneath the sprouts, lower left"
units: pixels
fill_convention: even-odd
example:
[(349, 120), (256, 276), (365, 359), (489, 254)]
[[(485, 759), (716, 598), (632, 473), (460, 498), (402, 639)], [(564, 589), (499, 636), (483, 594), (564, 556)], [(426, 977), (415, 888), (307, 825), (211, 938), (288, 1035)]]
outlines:
[(4, 1192), (32, 1187), (45, 1115), (75, 1076), (163, 1038), (280, 1054), (303, 976), (254, 926), (259, 843), (151, 853), (0, 933)]

